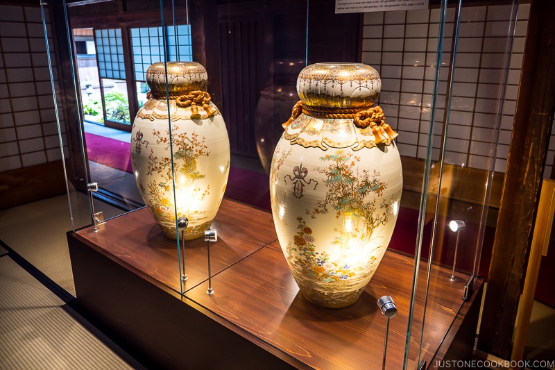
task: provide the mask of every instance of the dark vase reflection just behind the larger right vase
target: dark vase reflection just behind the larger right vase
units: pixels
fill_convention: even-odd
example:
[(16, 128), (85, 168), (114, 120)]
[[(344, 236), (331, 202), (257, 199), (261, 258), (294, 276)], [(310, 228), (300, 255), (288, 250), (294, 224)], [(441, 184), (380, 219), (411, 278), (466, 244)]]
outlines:
[(256, 148), (262, 167), (270, 172), (272, 154), (283, 133), (282, 124), (298, 101), (297, 76), (305, 60), (280, 59), (272, 63), (272, 78), (260, 94), (256, 108)]

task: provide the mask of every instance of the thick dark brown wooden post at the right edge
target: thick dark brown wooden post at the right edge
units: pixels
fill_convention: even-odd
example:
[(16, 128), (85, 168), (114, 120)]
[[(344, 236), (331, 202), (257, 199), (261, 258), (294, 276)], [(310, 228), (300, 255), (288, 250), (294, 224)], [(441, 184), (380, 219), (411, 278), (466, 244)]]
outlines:
[(478, 348), (507, 359), (555, 101), (555, 1), (531, 2)]

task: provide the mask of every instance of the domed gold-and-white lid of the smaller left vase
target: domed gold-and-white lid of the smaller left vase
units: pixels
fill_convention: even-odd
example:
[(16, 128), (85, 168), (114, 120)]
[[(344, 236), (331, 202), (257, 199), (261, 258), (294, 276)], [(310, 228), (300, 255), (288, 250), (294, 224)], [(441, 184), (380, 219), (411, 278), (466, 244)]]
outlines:
[[(166, 62), (166, 65), (170, 96), (206, 90), (208, 75), (203, 65), (197, 62)], [(157, 62), (146, 70), (146, 83), (155, 95), (166, 95), (166, 65)]]

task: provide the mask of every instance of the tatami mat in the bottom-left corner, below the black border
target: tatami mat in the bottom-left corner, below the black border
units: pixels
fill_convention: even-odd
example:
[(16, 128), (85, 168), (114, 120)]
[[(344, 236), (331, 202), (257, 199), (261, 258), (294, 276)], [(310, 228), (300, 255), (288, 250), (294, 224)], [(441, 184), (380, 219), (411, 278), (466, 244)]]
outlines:
[(137, 368), (9, 255), (0, 281), (0, 369)]

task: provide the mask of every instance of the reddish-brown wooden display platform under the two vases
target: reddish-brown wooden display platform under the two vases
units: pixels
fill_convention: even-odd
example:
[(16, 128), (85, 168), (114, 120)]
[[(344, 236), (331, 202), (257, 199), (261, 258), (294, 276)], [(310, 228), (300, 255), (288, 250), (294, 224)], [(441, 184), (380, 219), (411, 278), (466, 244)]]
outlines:
[[(224, 200), (212, 228), (219, 236), (210, 248), (213, 295), (206, 293), (206, 242), (186, 242), (189, 279), (181, 286), (177, 243), (145, 208), (97, 233), (69, 232), (78, 303), (155, 367), (382, 369), (386, 319), (376, 302), (389, 295), (399, 313), (390, 321), (386, 368), (402, 369), (413, 258), (386, 252), (357, 303), (320, 308), (298, 294), (271, 214)], [(422, 262), (408, 369), (417, 368), (426, 276)], [(432, 268), (420, 353), (429, 368), (472, 354), (482, 281), (463, 302), (468, 276), (450, 276)]]

